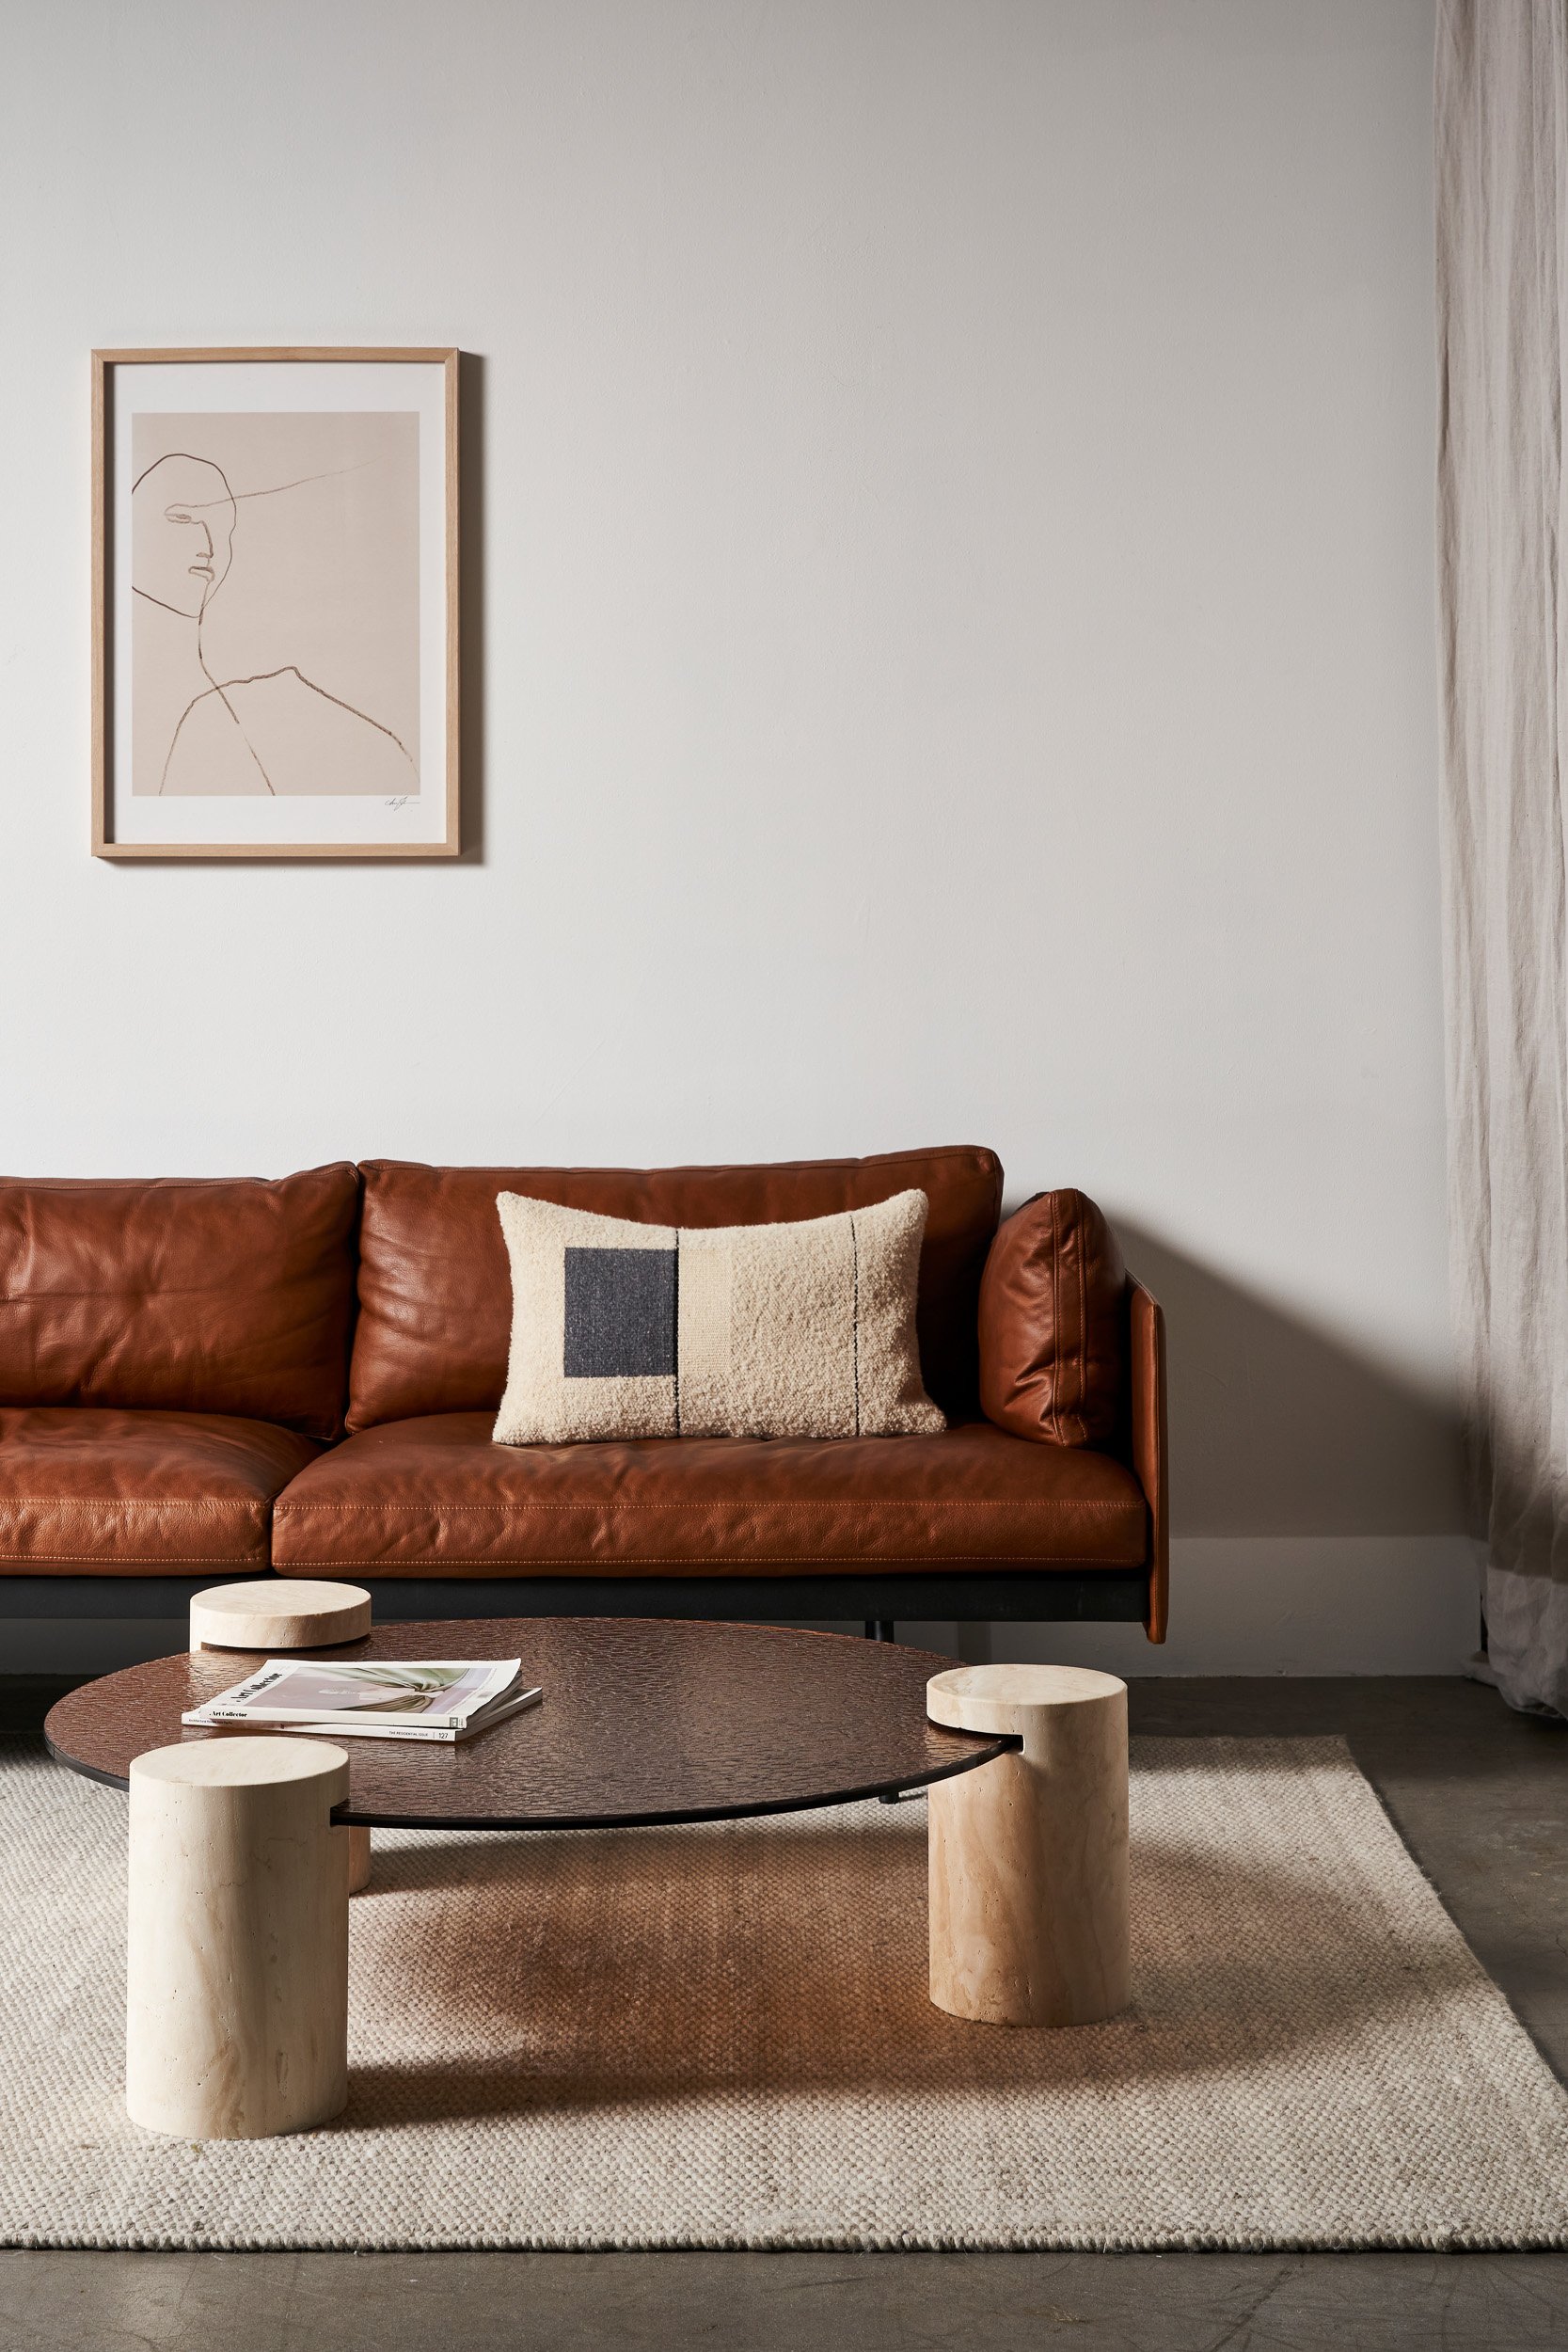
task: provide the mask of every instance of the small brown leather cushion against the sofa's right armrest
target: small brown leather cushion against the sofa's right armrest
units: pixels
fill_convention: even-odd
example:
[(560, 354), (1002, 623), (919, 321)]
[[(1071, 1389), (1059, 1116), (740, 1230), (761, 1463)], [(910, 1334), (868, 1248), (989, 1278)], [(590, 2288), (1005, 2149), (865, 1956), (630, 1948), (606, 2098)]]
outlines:
[(1086, 1192), (1037, 1192), (980, 1282), (980, 1404), (1013, 1437), (1103, 1446), (1126, 1399), (1126, 1265)]

